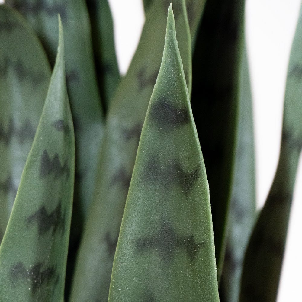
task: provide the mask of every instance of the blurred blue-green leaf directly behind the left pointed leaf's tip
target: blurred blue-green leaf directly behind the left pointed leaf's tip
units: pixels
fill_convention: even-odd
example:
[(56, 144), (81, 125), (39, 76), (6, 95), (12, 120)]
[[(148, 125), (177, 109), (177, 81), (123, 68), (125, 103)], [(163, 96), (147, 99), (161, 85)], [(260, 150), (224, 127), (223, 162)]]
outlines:
[[(56, 56), (58, 13), (65, 33), (66, 80), (76, 135), (75, 228), (92, 199), (103, 114), (93, 61), (91, 27), (84, 0), (6, 0), (37, 32), (50, 62)], [(78, 218), (78, 219), (77, 219)]]

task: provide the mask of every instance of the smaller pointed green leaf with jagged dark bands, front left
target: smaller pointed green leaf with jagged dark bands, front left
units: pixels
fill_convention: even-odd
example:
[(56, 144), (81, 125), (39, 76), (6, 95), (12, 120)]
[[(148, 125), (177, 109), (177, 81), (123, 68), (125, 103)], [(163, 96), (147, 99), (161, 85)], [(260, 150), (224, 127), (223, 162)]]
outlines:
[(0, 246), (1, 302), (63, 301), (75, 171), (63, 31), (47, 98)]

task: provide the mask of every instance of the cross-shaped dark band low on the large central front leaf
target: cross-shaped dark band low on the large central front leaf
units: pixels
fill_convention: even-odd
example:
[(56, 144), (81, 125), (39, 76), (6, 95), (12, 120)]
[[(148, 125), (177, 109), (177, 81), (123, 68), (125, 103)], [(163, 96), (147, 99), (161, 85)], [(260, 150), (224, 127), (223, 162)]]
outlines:
[(170, 222), (162, 220), (158, 233), (135, 240), (135, 249), (138, 253), (153, 249), (164, 263), (171, 262), (175, 252), (178, 249), (183, 249), (192, 262), (204, 244), (205, 241), (196, 243), (193, 235), (178, 236), (172, 229)]

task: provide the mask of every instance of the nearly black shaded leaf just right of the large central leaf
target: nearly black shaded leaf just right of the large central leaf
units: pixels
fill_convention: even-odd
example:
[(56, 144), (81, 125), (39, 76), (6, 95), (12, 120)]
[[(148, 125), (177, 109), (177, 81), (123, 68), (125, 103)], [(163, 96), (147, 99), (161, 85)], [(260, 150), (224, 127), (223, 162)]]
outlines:
[(192, 111), (210, 186), (218, 282), (226, 248), (244, 0), (207, 0), (193, 56)]

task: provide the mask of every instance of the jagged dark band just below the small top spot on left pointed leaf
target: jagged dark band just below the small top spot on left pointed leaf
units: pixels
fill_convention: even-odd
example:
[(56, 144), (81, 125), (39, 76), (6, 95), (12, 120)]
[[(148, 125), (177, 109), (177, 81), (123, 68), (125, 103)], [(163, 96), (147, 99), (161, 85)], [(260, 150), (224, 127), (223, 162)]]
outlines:
[(51, 160), (47, 151), (44, 150), (41, 156), (40, 177), (44, 178), (53, 174), (55, 178), (59, 178), (65, 174), (68, 178), (70, 169), (67, 162), (68, 160), (66, 159), (64, 165), (61, 165), (58, 153)]

